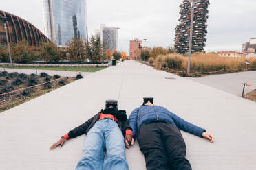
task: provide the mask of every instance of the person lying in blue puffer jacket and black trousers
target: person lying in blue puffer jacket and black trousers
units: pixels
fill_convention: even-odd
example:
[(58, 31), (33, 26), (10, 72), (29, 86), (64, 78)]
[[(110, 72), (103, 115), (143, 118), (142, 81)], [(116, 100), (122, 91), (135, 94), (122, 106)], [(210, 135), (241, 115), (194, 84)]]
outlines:
[(178, 117), (162, 106), (153, 105), (153, 97), (144, 97), (142, 106), (129, 116), (133, 136), (144, 154), (147, 170), (191, 170), (186, 144), (180, 130), (213, 143), (206, 130)]

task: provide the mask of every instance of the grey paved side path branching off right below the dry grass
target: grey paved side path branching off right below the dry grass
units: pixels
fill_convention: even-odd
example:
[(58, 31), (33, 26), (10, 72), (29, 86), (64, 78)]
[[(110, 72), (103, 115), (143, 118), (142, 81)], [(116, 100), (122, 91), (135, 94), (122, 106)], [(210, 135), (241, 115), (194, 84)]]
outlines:
[(242, 96), (243, 83), (253, 84), (246, 86), (244, 94), (256, 89), (256, 71), (245, 71), (240, 73), (229, 73), (223, 75), (209, 75), (200, 78), (189, 78), (195, 82), (206, 84), (208, 86)]

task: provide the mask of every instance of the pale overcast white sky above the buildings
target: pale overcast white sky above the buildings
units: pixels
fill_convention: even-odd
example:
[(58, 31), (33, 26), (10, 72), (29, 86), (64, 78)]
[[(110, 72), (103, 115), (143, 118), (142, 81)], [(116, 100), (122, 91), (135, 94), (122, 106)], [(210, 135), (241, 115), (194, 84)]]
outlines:
[[(26, 19), (42, 32), (42, 0), (0, 0), (0, 10)], [(182, 0), (87, 0), (89, 34), (100, 23), (119, 27), (118, 49), (129, 54), (129, 40), (147, 38), (149, 47), (173, 44)], [(242, 50), (256, 37), (255, 0), (210, 0), (206, 51)]]

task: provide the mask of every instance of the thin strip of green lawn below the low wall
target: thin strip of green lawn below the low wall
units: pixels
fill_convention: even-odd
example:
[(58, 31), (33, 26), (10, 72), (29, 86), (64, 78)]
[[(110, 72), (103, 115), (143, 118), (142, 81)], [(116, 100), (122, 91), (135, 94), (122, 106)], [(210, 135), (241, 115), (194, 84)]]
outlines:
[(38, 70), (55, 70), (55, 71), (81, 71), (81, 72), (96, 72), (107, 67), (32, 67), (32, 66), (1, 66), (0, 68), (8, 69), (38, 69)]

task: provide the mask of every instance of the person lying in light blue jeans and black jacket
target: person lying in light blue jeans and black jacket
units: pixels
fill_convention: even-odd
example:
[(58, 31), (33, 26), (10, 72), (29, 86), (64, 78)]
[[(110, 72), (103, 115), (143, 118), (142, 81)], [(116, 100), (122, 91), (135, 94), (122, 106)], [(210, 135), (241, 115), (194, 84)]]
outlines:
[(132, 129), (129, 127), (125, 110), (118, 110), (117, 101), (107, 100), (104, 110), (61, 136), (50, 150), (58, 145), (62, 147), (67, 139), (82, 134), (86, 134), (83, 156), (76, 170), (128, 170), (125, 146), (129, 148), (133, 143)]

